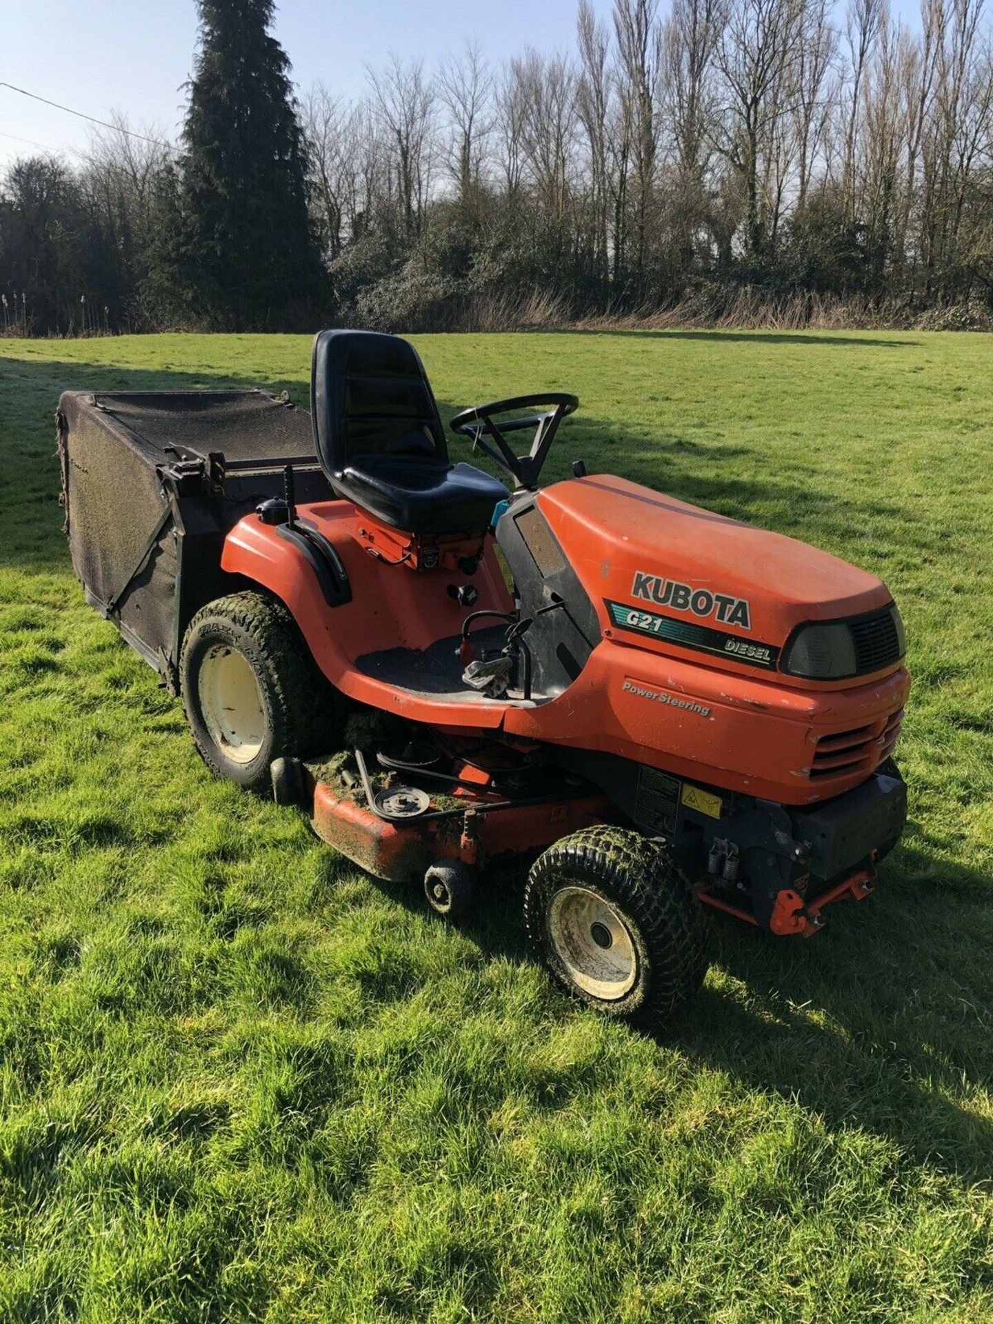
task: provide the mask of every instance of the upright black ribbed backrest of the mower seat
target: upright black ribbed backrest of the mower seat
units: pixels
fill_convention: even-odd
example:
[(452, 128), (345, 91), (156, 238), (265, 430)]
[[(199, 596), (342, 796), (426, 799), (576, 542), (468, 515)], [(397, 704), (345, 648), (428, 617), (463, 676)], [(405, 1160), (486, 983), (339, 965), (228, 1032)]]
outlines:
[(310, 379), (314, 445), (328, 478), (364, 455), (448, 461), (438, 406), (414, 347), (379, 331), (319, 331)]

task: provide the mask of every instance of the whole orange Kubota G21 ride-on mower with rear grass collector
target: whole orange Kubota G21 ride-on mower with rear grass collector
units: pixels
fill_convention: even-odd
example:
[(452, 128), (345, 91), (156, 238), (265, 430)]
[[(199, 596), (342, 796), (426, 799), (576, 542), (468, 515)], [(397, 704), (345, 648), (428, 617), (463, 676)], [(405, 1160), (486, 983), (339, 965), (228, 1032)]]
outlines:
[(310, 416), (66, 392), (66, 530), (214, 773), (449, 916), (536, 857), (555, 980), (658, 1022), (703, 978), (707, 908), (809, 936), (873, 891), (907, 813), (903, 626), (880, 580), (789, 538), (581, 459), (542, 487), (576, 406), (451, 418), (504, 486), (449, 458), (396, 336), (320, 332)]

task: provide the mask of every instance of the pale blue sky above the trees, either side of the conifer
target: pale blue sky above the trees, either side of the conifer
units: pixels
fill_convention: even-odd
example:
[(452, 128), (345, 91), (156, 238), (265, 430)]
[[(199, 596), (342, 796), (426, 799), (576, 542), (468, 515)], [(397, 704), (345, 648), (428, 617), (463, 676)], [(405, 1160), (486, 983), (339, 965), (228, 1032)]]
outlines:
[[(592, 3), (609, 15), (612, 0)], [(577, 0), (285, 0), (275, 33), (301, 87), (319, 78), (360, 95), (363, 66), (392, 50), (434, 65), (467, 37), (494, 60), (528, 44), (572, 49), (576, 8)], [(117, 109), (132, 127), (155, 122), (175, 136), (196, 42), (192, 0), (7, 0), (3, 9), (0, 79), (98, 118)], [(894, 9), (912, 15), (916, 0), (895, 0)], [(85, 148), (89, 132), (83, 120), (0, 87), (0, 164), (36, 151), (16, 139), (70, 151)]]

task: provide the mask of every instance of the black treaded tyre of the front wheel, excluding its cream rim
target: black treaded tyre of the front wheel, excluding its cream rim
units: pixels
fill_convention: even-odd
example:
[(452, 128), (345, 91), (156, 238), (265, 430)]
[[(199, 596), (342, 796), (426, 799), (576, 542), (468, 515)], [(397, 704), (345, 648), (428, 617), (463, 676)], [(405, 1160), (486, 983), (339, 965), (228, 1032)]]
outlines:
[[(622, 996), (597, 997), (577, 984), (552, 937), (556, 894), (576, 888), (600, 896), (628, 929), (636, 976)], [(665, 1026), (707, 972), (704, 925), (687, 879), (662, 845), (636, 831), (585, 828), (549, 846), (528, 875), (524, 927), (534, 953), (561, 989), (618, 1019)]]

